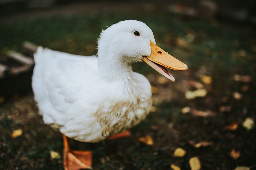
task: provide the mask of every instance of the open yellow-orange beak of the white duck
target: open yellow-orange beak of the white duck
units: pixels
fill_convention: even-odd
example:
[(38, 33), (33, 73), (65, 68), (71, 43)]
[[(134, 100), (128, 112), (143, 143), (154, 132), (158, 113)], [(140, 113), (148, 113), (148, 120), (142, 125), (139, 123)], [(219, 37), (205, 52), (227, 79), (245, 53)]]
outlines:
[(173, 70), (187, 70), (187, 65), (178, 59), (174, 58), (159, 46), (155, 45), (150, 41), (151, 54), (150, 56), (143, 56), (142, 60), (150, 65), (153, 69), (157, 70), (160, 74), (170, 79), (172, 82), (175, 81), (173, 75), (168, 73), (167, 68)]

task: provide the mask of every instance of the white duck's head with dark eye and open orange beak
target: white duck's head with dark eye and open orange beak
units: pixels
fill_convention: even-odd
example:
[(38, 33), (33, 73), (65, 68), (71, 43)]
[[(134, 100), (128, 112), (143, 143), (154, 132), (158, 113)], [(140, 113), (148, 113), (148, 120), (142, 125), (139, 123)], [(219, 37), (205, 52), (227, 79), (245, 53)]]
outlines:
[(130, 70), (132, 63), (144, 61), (172, 82), (175, 79), (166, 67), (187, 70), (186, 64), (156, 45), (153, 32), (146, 24), (136, 20), (121, 21), (102, 31), (98, 39), (98, 57), (99, 69)]

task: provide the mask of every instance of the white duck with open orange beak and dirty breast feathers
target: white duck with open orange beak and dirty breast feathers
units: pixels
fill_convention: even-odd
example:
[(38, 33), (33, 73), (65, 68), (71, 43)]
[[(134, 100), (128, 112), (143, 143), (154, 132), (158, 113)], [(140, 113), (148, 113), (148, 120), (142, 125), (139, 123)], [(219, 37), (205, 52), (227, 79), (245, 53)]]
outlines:
[[(165, 67), (187, 66), (155, 45), (151, 29), (136, 20), (102, 31), (97, 56), (78, 56), (39, 47), (32, 87), (45, 124), (64, 139), (65, 169), (91, 167), (90, 151), (72, 151), (67, 137), (99, 142), (144, 120), (151, 107), (151, 86), (131, 64), (145, 61), (174, 82)], [(121, 136), (129, 135), (128, 132)], [(114, 137), (120, 137), (115, 135)]]

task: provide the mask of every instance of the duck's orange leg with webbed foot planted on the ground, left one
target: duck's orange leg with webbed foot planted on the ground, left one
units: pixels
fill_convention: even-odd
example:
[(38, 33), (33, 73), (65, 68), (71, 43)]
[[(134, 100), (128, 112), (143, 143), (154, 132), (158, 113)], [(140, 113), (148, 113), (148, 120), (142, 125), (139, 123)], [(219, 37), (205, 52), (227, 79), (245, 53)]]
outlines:
[(91, 169), (92, 154), (91, 151), (75, 151), (69, 147), (68, 139), (65, 135), (63, 137), (63, 164), (65, 170)]

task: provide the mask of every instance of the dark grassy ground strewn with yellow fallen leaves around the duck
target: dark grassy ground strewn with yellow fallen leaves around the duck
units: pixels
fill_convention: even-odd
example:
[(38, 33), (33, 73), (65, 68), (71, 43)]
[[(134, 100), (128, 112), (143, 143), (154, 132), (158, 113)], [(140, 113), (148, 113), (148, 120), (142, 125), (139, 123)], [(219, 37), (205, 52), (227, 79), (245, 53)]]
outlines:
[[(201, 169), (252, 167), (256, 164), (255, 126), (250, 129), (244, 122), (256, 118), (255, 29), (148, 7), (118, 13), (59, 10), (31, 11), (23, 14), (25, 18), (11, 16), (0, 23), (0, 54), (21, 52), (26, 40), (54, 50), (93, 55), (105, 26), (140, 20), (152, 29), (157, 45), (189, 69), (170, 70), (175, 77), (171, 83), (145, 63), (134, 64), (134, 71), (145, 75), (153, 86), (154, 107), (147, 118), (125, 139), (100, 143), (70, 139), (71, 147), (91, 150), (93, 169), (171, 169), (174, 164), (187, 170), (192, 157), (199, 158)], [(43, 124), (31, 91), (14, 96), (0, 105), (0, 169), (63, 169), (61, 133)], [(22, 134), (15, 136), (18, 129)], [(152, 137), (153, 145), (140, 141), (146, 136)], [(201, 143), (200, 147), (200, 142), (208, 146)], [(186, 154), (175, 157), (177, 148)], [(232, 150), (238, 158), (230, 154)], [(51, 151), (60, 158), (51, 158)]]

